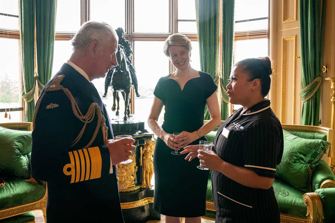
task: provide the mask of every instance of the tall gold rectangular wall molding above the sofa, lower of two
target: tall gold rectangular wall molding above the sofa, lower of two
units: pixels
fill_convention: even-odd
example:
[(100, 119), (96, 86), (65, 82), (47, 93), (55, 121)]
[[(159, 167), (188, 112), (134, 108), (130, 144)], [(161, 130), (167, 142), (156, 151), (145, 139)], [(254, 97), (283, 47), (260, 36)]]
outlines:
[(286, 105), (286, 51), (287, 51), (287, 41), (293, 40), (293, 108), (292, 108), (292, 121), (294, 124), (295, 121), (295, 85), (296, 85), (296, 71), (295, 71), (295, 64), (296, 64), (296, 35), (294, 36), (284, 36), (283, 37), (283, 44), (282, 44), (282, 75), (281, 75), (281, 123), (285, 123), (285, 105)]

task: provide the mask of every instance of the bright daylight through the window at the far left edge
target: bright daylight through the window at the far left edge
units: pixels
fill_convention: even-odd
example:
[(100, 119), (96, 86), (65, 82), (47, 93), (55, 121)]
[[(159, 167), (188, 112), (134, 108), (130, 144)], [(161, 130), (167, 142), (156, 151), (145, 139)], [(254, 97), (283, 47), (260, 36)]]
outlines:
[[(22, 121), (18, 14), (18, 1), (0, 1), (0, 123)], [(5, 117), (5, 110), (7, 117)]]

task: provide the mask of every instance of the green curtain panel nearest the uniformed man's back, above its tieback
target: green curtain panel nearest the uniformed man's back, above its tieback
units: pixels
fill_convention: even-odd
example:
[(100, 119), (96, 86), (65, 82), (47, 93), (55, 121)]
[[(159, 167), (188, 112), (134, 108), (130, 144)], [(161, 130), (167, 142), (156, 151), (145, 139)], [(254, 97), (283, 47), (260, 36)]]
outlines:
[(52, 75), (55, 42), (56, 0), (36, 0), (36, 77), (39, 94)]

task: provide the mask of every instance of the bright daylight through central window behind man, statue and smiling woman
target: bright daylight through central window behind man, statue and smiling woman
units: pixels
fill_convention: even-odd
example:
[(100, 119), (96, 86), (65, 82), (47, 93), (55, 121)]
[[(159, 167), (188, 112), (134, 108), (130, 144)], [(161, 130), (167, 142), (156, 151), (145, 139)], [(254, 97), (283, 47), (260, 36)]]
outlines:
[[(133, 7), (125, 7), (134, 2)], [(132, 62), (136, 69), (138, 80), (138, 91), (140, 97), (132, 98), (134, 100), (134, 118), (145, 122), (147, 127), (147, 118), (153, 102), (153, 90), (160, 77), (166, 76), (173, 72), (171, 63), (163, 53), (164, 40), (171, 33), (185, 33), (192, 40), (192, 55), (191, 64), (196, 70), (200, 70), (199, 45), (197, 41), (197, 28), (195, 18), (195, 3), (194, 0), (178, 0), (178, 9), (171, 9), (169, 0), (124, 0), (124, 1), (106, 1), (95, 0), (90, 1), (90, 10), (83, 12), (80, 10), (80, 2), (71, 1), (71, 7), (68, 6), (68, 1), (57, 1), (56, 15), (56, 41), (54, 48), (54, 64), (53, 75), (55, 75), (63, 63), (70, 58), (72, 53), (71, 42), (69, 41), (80, 27), (80, 21), (85, 21), (89, 18), (92, 21), (104, 21), (110, 24), (114, 29), (122, 27), (124, 36), (130, 41), (133, 49)], [(127, 4), (126, 4), (127, 3)], [(148, 13), (147, 6), (155, 10)], [(117, 8), (118, 10), (111, 10)], [(192, 8), (192, 10), (190, 10)], [(76, 10), (73, 10), (76, 9)], [(128, 10), (128, 11), (127, 11)], [(178, 18), (169, 17), (170, 10), (178, 10)], [(75, 11), (75, 15), (71, 20), (65, 20), (63, 15)], [(80, 14), (81, 12), (81, 14)], [(170, 19), (170, 20), (169, 20)], [(131, 22), (134, 21), (134, 22)], [(172, 23), (178, 22), (178, 27), (171, 28)], [(128, 24), (128, 25), (126, 25)], [(95, 79), (92, 81), (100, 96), (105, 91), (105, 78)], [(120, 116), (124, 112), (124, 100), (121, 92), (120, 97)], [(113, 93), (111, 88), (108, 89), (107, 97), (102, 100), (106, 105), (109, 117), (115, 118), (115, 111), (112, 111)], [(158, 119), (159, 124), (163, 122), (164, 108)]]

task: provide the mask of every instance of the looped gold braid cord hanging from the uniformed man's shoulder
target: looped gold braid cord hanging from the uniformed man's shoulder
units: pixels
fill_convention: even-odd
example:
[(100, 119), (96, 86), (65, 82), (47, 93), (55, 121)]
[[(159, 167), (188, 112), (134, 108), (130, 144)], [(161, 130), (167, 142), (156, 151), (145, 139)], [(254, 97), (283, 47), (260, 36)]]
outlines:
[(99, 130), (100, 127), (102, 128), (102, 132), (103, 132), (103, 136), (104, 136), (104, 141), (106, 141), (107, 137), (108, 137), (108, 134), (107, 134), (108, 127), (106, 126), (106, 119), (105, 119), (104, 115), (102, 114), (101, 109), (98, 106), (98, 104), (97, 103), (91, 103), (91, 105), (88, 107), (87, 113), (85, 115), (83, 115), (81, 113), (81, 111), (80, 111), (80, 109), (79, 109), (76, 101), (74, 100), (71, 92), (69, 91), (69, 89), (64, 88), (60, 84), (62, 82), (63, 78), (64, 78), (64, 75), (60, 75), (60, 76), (56, 77), (52, 81), (52, 83), (48, 87), (46, 87), (46, 89), (44, 90), (43, 94), (41, 95), (41, 98), (40, 98), (40, 100), (38, 101), (38, 103), (36, 105), (36, 111), (35, 111), (35, 114), (34, 114), (34, 121), (33, 121), (34, 128), (35, 128), (36, 115), (37, 115), (38, 109), (39, 109), (39, 107), (41, 105), (42, 99), (43, 99), (44, 95), (46, 94), (46, 92), (48, 92), (48, 91), (63, 90), (63, 92), (65, 93), (65, 95), (71, 101), (71, 107), (72, 107), (73, 114), (81, 122), (84, 123), (84, 126), (82, 127), (82, 129), (79, 132), (78, 136), (72, 141), (71, 147), (74, 146), (75, 144), (77, 144), (77, 142), (80, 140), (81, 136), (83, 135), (83, 133), (85, 131), (87, 123), (90, 123), (93, 120), (95, 112), (96, 112), (96, 114), (98, 116), (98, 121), (97, 121), (97, 124), (96, 124), (96, 127), (95, 127), (95, 130), (94, 130), (94, 133), (93, 133), (93, 136), (92, 136), (91, 140), (88, 142), (87, 145), (84, 146), (84, 148), (88, 148), (93, 143), (93, 141), (94, 141), (94, 139), (96, 137), (96, 134), (98, 133), (98, 130)]

